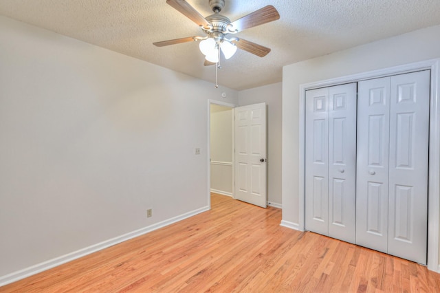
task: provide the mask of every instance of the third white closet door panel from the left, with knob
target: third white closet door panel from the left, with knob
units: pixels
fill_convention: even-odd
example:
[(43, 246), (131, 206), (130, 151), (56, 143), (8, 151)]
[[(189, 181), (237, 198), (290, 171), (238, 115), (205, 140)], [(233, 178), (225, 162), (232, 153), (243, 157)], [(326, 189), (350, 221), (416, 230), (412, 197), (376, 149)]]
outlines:
[(356, 244), (387, 252), (390, 78), (358, 83)]

